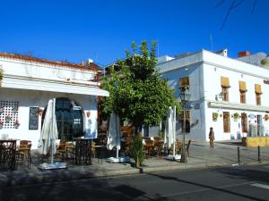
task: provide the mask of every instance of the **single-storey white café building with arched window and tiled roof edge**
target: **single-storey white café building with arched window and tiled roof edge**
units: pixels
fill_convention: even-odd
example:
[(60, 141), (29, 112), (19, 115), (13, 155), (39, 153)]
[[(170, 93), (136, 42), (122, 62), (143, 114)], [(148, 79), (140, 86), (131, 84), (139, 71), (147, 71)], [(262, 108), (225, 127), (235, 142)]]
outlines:
[(0, 53), (0, 71), (0, 138), (28, 139), (37, 148), (51, 98), (56, 98), (59, 138), (80, 137), (86, 130), (97, 136), (97, 97), (108, 92), (100, 89), (94, 63), (85, 67)]

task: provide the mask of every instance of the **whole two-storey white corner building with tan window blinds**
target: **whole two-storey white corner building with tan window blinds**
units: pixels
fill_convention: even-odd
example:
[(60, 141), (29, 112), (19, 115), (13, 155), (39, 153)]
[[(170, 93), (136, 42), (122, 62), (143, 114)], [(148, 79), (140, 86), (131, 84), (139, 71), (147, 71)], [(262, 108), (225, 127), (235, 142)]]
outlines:
[(161, 77), (176, 89), (178, 101), (180, 88), (189, 86), (189, 138), (208, 141), (210, 127), (216, 140), (269, 135), (268, 69), (231, 59), (227, 50), (159, 61)]

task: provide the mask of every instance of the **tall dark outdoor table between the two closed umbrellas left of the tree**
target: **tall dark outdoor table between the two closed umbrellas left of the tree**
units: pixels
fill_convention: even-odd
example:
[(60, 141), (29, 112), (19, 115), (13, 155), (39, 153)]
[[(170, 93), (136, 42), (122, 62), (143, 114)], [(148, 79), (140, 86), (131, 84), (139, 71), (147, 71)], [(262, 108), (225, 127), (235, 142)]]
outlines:
[(91, 140), (92, 138), (74, 138), (74, 163), (92, 164), (91, 162)]

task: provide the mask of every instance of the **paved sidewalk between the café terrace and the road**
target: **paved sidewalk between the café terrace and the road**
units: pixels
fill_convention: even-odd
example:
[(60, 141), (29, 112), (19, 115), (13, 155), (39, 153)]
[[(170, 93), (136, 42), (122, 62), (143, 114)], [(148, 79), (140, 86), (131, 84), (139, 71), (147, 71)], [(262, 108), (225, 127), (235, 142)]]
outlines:
[[(238, 147), (240, 163), (258, 163), (257, 148), (242, 147), (239, 141), (235, 140), (217, 142), (214, 148), (210, 148), (209, 143), (194, 141), (191, 143), (187, 163), (169, 161), (164, 157), (152, 157), (146, 158), (140, 169), (132, 167), (130, 163), (108, 163), (106, 159), (93, 158), (92, 165), (68, 163), (68, 168), (65, 170), (40, 171), (37, 168), (38, 158), (33, 155), (30, 169), (26, 165), (20, 165), (13, 172), (0, 172), (0, 186), (232, 165), (239, 163)], [(269, 163), (269, 147), (261, 148), (261, 161)]]

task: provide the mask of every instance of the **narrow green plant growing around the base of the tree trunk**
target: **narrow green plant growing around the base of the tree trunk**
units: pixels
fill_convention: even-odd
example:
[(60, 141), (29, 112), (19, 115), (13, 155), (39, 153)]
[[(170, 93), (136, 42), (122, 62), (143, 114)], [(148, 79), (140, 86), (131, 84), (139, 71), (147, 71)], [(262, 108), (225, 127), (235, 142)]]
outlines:
[(131, 143), (131, 155), (134, 157), (135, 167), (143, 164), (143, 142), (141, 135), (135, 135)]

